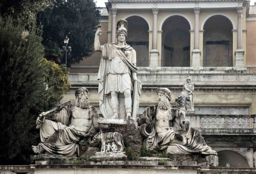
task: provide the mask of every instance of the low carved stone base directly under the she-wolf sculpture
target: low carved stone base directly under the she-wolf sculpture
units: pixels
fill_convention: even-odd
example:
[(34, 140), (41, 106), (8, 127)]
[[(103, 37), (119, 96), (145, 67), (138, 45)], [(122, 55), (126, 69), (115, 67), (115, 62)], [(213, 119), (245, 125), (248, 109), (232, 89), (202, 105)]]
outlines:
[(93, 161), (124, 161), (127, 159), (127, 156), (125, 155), (125, 152), (96, 152), (95, 156), (92, 156), (90, 159)]

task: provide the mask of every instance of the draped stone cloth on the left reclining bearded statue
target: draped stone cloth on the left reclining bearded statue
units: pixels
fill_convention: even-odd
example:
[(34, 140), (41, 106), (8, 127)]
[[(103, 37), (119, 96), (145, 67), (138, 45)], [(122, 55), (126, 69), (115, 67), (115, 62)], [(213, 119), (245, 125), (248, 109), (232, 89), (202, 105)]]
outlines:
[[(68, 127), (71, 115), (71, 107), (66, 106), (61, 109), (57, 115), (57, 121), (54, 122), (45, 119), (40, 126), (40, 145), (50, 154), (72, 156), (75, 153), (79, 156), (79, 144), (86, 144), (90, 135), (76, 131)], [(79, 143), (79, 144), (78, 144)]]

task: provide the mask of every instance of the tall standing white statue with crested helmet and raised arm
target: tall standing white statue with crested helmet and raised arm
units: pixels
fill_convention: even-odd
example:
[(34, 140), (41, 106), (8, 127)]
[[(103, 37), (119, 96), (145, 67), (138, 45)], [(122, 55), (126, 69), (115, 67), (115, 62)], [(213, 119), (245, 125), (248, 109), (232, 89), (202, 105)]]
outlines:
[(141, 84), (137, 79), (136, 52), (125, 42), (127, 21), (117, 22), (117, 43), (100, 45), (101, 32), (98, 28), (94, 40), (95, 51), (102, 52), (98, 72), (100, 111), (104, 118), (136, 118)]

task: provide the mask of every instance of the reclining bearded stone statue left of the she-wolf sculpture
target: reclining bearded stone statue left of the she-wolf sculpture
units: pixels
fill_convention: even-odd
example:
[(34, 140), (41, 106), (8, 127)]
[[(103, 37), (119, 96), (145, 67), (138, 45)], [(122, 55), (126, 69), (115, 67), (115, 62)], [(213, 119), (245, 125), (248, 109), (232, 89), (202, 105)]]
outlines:
[(79, 156), (79, 144), (90, 143), (97, 133), (99, 114), (90, 106), (88, 90), (84, 87), (75, 92), (75, 105), (70, 101), (57, 108), (41, 113), (37, 120), (41, 143), (32, 146), (36, 154)]

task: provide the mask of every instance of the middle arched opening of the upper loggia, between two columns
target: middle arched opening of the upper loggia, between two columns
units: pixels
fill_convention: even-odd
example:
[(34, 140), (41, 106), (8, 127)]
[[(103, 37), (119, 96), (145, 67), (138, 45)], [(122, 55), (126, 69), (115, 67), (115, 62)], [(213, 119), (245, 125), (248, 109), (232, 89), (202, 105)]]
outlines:
[(190, 66), (190, 26), (182, 16), (168, 17), (162, 27), (162, 66)]

